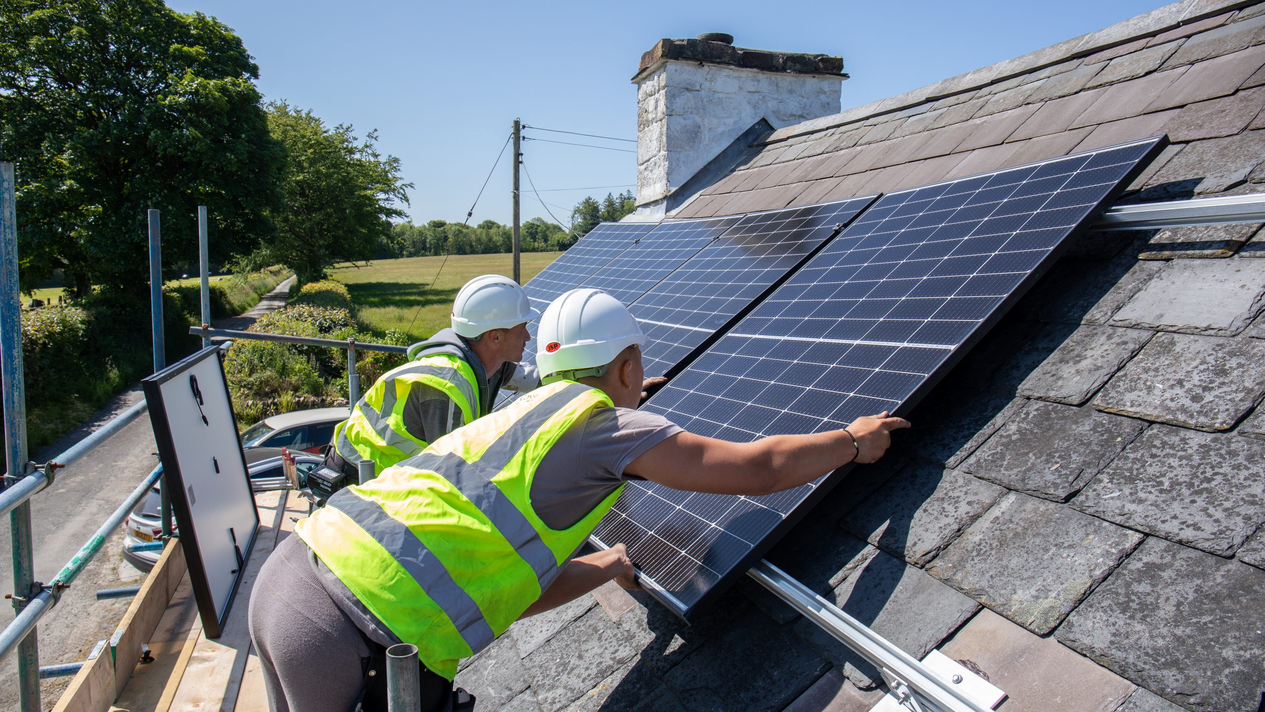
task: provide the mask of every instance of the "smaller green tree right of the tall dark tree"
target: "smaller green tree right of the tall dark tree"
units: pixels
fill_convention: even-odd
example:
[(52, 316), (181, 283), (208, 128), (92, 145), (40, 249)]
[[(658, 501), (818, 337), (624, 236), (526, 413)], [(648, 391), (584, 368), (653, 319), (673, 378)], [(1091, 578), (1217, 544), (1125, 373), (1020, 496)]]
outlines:
[(377, 151), (377, 132), (357, 139), (350, 125), (325, 127), (311, 111), (268, 105), (268, 128), (285, 146), (282, 207), (275, 238), (250, 262), (282, 264), (300, 281), (320, 279), (335, 262), (368, 260), (404, 217), (411, 182), (400, 160)]

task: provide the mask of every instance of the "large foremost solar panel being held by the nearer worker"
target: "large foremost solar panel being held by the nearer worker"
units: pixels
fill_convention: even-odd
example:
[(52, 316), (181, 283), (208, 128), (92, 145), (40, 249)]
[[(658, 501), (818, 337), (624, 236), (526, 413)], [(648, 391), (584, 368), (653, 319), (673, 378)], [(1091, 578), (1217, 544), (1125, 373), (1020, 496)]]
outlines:
[[(643, 405), (730, 441), (908, 412), (1166, 141), (1101, 148), (880, 198)], [(688, 616), (829, 489), (765, 495), (629, 483), (598, 528)]]

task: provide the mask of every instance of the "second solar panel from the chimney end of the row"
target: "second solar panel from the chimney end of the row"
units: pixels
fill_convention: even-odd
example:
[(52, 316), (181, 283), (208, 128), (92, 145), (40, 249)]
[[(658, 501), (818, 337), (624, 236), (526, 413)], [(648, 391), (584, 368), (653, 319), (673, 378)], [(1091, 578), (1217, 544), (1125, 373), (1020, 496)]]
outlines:
[(659, 223), (578, 286), (597, 288), (631, 304), (736, 222), (730, 217)]

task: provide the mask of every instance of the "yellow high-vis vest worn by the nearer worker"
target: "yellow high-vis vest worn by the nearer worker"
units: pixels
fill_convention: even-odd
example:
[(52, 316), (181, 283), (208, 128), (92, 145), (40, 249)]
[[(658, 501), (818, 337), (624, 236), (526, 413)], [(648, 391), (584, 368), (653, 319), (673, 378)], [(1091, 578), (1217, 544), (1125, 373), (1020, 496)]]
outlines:
[(554, 383), (436, 440), (295, 527), (329, 570), (421, 661), (453, 679), (562, 573), (622, 485), (565, 530), (531, 507), (536, 469), (598, 389)]

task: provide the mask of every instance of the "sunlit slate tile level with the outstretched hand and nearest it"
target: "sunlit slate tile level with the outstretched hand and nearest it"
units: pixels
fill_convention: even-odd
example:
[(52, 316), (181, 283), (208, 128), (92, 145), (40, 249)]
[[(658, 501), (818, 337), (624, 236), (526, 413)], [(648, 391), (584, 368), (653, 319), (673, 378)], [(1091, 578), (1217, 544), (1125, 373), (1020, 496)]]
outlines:
[(963, 471), (1064, 502), (1142, 432), (1146, 423), (1034, 400), (963, 462)]

